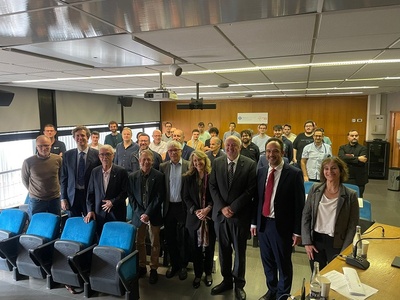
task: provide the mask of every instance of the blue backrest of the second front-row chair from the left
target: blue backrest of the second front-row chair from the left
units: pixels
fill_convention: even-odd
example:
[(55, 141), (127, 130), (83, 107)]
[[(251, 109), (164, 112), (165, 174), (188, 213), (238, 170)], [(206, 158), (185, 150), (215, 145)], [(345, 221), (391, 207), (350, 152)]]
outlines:
[(49, 241), (60, 233), (60, 216), (51, 213), (37, 213), (32, 216), (26, 234), (37, 235)]

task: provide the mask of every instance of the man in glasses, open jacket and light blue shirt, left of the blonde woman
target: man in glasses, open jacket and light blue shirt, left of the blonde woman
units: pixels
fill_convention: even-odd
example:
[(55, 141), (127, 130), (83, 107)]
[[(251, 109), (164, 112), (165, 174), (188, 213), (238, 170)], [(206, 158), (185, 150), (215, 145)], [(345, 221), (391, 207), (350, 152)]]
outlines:
[(167, 144), (170, 161), (160, 165), (165, 175), (165, 200), (163, 206), (165, 239), (171, 258), (171, 266), (165, 276), (174, 277), (177, 273), (180, 280), (187, 278), (188, 234), (185, 227), (186, 206), (182, 201), (182, 175), (189, 169), (189, 162), (182, 158), (182, 144), (169, 141)]

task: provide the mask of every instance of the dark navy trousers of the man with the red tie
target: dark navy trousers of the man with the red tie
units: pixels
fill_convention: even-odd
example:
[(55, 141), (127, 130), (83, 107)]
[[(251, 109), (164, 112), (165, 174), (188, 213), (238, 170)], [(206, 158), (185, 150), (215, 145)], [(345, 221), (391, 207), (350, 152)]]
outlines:
[(284, 294), (290, 294), (292, 287), (292, 235), (281, 236), (276, 230), (275, 219), (263, 217), (262, 222), (265, 222), (265, 230), (258, 233), (261, 260), (268, 290), (279, 299)]

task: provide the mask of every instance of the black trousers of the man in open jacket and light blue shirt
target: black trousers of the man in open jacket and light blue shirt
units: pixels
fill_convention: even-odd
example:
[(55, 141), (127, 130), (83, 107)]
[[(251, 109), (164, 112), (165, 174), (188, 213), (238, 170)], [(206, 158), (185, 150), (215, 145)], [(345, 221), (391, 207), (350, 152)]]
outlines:
[(185, 221), (186, 213), (182, 203), (170, 202), (164, 219), (164, 230), (171, 267), (174, 270), (186, 268), (189, 262), (189, 239)]

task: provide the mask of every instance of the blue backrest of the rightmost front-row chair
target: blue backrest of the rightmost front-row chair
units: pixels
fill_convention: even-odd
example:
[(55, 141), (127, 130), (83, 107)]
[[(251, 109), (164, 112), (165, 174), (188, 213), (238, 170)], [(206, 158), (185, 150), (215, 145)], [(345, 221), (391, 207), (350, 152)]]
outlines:
[(136, 228), (132, 224), (120, 221), (104, 224), (99, 246), (110, 246), (122, 249), (125, 254), (131, 253), (135, 245)]

